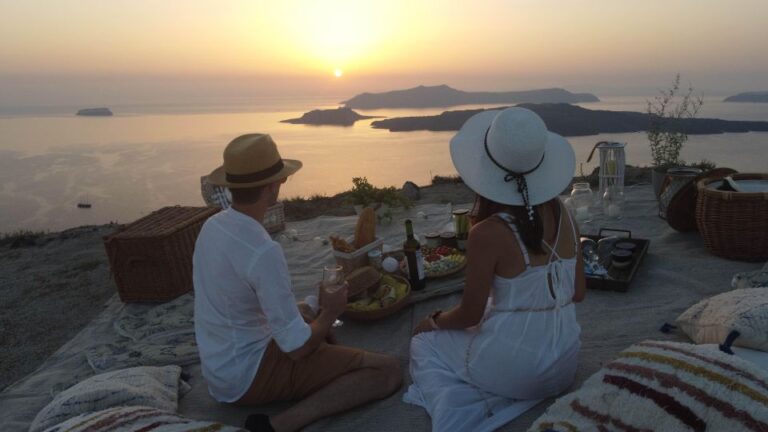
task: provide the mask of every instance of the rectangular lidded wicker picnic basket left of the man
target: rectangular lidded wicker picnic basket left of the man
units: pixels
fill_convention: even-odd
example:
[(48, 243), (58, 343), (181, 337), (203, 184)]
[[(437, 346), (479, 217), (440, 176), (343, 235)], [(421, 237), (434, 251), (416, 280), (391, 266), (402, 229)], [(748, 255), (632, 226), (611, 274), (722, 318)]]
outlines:
[(164, 302), (190, 291), (197, 235), (219, 210), (164, 207), (104, 237), (120, 299)]

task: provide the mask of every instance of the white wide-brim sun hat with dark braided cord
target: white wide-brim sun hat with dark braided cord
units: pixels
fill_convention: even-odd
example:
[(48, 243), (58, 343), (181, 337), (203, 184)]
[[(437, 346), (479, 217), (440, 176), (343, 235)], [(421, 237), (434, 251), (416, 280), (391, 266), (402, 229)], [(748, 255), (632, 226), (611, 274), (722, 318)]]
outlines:
[(450, 147), (464, 183), (477, 194), (507, 205), (525, 205), (510, 173), (524, 175), (533, 206), (561, 194), (576, 168), (571, 144), (549, 132), (541, 117), (525, 108), (472, 116), (451, 139)]

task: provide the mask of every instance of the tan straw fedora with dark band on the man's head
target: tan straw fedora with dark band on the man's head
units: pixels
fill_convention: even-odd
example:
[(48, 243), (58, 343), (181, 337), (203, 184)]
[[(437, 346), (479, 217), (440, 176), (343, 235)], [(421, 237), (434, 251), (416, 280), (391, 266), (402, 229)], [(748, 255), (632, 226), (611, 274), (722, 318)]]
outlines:
[(230, 189), (257, 187), (282, 180), (301, 168), (301, 161), (283, 159), (267, 134), (241, 135), (224, 149), (224, 165), (208, 180)]

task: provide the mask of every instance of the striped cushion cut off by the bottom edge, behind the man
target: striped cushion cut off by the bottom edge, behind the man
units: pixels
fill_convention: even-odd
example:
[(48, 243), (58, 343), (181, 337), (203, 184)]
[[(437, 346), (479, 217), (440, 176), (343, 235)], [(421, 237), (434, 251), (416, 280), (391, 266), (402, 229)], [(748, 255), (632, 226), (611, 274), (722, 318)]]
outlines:
[(81, 414), (45, 432), (245, 432), (210, 421), (192, 420), (152, 407), (115, 407)]

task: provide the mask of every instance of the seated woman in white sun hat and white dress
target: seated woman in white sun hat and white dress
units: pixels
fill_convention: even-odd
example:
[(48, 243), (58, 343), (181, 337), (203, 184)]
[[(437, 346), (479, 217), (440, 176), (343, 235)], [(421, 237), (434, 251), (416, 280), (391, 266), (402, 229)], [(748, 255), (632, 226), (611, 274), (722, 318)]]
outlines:
[(571, 145), (532, 111), (470, 118), (451, 157), (477, 193), (460, 304), (414, 331), (413, 385), (435, 431), (492, 430), (573, 382), (585, 293), (579, 234), (557, 196), (570, 183)]

